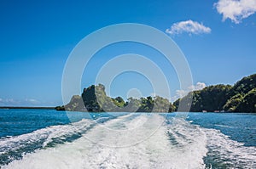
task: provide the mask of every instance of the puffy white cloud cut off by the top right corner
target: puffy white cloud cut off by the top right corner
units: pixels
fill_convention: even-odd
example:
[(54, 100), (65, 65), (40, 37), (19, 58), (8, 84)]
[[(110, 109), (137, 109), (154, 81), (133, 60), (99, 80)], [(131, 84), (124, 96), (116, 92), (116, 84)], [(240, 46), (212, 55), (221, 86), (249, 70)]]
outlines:
[(256, 0), (219, 0), (214, 7), (218, 14), (223, 14), (223, 21), (230, 19), (239, 24), (256, 12)]

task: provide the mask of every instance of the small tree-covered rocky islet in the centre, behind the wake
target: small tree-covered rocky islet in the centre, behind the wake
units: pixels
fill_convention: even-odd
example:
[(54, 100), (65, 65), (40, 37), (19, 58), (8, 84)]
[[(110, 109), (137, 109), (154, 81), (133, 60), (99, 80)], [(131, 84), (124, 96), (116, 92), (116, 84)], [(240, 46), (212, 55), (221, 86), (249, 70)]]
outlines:
[(75, 95), (65, 106), (57, 106), (55, 110), (90, 111), (90, 112), (168, 112), (174, 110), (168, 99), (151, 96), (141, 99), (129, 98), (126, 102), (121, 97), (110, 98), (102, 84), (84, 88), (81, 96)]

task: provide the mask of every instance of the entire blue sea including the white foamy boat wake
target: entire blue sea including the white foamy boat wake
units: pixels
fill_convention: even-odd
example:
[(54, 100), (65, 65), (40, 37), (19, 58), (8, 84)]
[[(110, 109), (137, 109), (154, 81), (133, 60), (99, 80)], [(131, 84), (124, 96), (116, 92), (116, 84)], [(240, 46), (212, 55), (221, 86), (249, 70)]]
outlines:
[(256, 114), (2, 109), (0, 168), (256, 168)]

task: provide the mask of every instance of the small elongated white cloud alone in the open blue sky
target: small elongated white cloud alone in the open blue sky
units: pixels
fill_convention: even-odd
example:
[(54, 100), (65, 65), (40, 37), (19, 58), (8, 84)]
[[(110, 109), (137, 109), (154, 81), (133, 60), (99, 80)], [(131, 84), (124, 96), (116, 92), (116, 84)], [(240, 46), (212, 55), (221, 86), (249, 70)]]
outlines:
[(181, 34), (183, 32), (191, 34), (201, 34), (201, 33), (210, 33), (212, 30), (211, 28), (200, 24), (193, 20), (186, 20), (174, 23), (170, 29), (166, 29), (166, 33), (171, 35)]

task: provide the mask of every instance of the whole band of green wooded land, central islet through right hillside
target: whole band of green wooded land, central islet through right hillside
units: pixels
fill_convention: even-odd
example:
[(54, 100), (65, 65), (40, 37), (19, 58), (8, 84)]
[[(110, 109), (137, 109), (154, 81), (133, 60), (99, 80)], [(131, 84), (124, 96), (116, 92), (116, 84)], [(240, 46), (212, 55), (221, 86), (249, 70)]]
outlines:
[(84, 88), (81, 96), (73, 96), (65, 106), (57, 106), (55, 110), (92, 111), (92, 112), (172, 112), (177, 111), (180, 102), (192, 100), (190, 111), (226, 111), (226, 112), (256, 112), (256, 74), (247, 76), (230, 85), (212, 85), (202, 90), (188, 93), (173, 104), (160, 96), (141, 99), (121, 97), (110, 98), (105, 93), (102, 84)]

